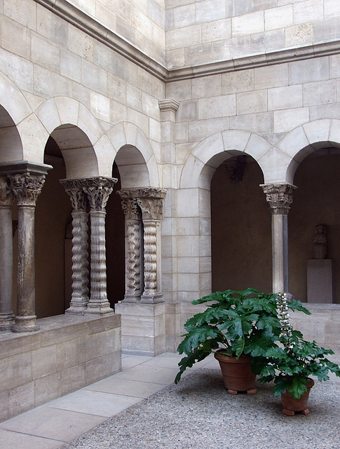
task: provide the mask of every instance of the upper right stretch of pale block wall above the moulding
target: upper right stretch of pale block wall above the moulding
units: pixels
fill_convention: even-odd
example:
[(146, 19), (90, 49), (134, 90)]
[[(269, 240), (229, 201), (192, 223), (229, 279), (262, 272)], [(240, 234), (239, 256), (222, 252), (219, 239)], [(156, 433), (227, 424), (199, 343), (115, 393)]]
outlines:
[(339, 39), (337, 0), (169, 0), (165, 4), (169, 68)]

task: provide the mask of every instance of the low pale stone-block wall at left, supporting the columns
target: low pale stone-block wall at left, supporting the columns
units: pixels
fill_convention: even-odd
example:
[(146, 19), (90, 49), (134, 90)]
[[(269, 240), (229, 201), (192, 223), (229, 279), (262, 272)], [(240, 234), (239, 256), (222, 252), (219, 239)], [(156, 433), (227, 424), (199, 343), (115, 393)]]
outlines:
[(0, 334), (0, 421), (121, 370), (121, 316), (60, 315)]

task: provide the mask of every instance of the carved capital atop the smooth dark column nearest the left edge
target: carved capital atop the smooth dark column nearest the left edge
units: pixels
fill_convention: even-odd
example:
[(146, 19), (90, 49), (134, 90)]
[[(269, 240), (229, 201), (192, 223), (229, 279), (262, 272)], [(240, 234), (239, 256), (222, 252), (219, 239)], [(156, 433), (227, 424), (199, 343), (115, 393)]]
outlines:
[(35, 206), (44, 182), (45, 175), (32, 175), (28, 171), (8, 175), (8, 186), (18, 201), (18, 206)]

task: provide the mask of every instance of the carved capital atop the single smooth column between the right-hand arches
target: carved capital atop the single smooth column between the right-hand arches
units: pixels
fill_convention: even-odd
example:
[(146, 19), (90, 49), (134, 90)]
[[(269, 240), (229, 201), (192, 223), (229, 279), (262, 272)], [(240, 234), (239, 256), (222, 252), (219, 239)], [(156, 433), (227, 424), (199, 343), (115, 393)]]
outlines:
[(293, 192), (297, 187), (291, 184), (261, 185), (266, 194), (266, 201), (271, 206), (272, 215), (287, 215), (293, 201)]

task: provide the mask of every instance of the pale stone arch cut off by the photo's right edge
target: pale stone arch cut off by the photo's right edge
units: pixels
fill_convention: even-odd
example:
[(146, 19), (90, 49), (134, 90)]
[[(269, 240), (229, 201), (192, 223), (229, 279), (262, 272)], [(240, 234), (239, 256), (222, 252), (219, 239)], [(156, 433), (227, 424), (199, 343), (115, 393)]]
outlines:
[(318, 149), (340, 147), (340, 120), (315, 120), (298, 126), (278, 143), (278, 150), (290, 161), (283, 179), (294, 184), (294, 174), (303, 159)]

